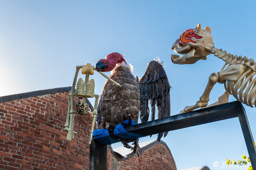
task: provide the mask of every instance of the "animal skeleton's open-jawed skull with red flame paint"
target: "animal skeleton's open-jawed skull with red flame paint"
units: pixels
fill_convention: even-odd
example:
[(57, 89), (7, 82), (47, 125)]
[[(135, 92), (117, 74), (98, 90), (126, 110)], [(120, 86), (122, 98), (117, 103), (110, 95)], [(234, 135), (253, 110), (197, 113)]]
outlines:
[(179, 54), (185, 54), (181, 58), (179, 55), (172, 55), (172, 62), (179, 65), (193, 64), (200, 59), (206, 59), (211, 54), (211, 47), (214, 47), (211, 36), (211, 28), (201, 28), (198, 24), (195, 29), (187, 29), (172, 46), (172, 50)]

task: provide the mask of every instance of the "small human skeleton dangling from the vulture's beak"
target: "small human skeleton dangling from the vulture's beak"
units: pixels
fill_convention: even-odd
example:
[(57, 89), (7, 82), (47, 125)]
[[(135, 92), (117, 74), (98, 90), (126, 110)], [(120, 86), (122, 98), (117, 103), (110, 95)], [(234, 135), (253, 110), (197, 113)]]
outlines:
[[(85, 74), (85, 80), (83, 81), (82, 78), (80, 78), (77, 81), (77, 75), (79, 73), (79, 70), (82, 68), (82, 74)], [(68, 131), (67, 134), (67, 141), (71, 142), (74, 139), (74, 134), (77, 134), (77, 132), (74, 131), (74, 118), (75, 118), (75, 111), (74, 111), (74, 96), (78, 97), (78, 102), (76, 104), (76, 111), (78, 114), (84, 115), (88, 113), (88, 104), (86, 103), (86, 98), (95, 98), (95, 104), (93, 108), (93, 120), (92, 120), (92, 128), (90, 131), (90, 137), (88, 143), (90, 144), (92, 141), (92, 135), (93, 135), (93, 130), (94, 130), (94, 124), (95, 124), (95, 119), (97, 116), (97, 107), (98, 107), (98, 102), (99, 102), (99, 95), (96, 95), (94, 93), (95, 89), (95, 81), (94, 79), (90, 79), (90, 75), (93, 75), (95, 67), (92, 66), (90, 63), (87, 65), (83, 66), (76, 66), (76, 74), (74, 77), (74, 81), (72, 84), (71, 91), (69, 93), (68, 97), (68, 111), (67, 111), (67, 120), (65, 123), (65, 130)], [(116, 86), (121, 86), (117, 82), (113, 81), (110, 79), (107, 75), (105, 75), (102, 72), (99, 72), (101, 75), (109, 79), (109, 81), (112, 81), (113, 83), (116, 84)], [(77, 84), (76, 84), (77, 81)], [(76, 87), (76, 92), (75, 92), (75, 87)]]

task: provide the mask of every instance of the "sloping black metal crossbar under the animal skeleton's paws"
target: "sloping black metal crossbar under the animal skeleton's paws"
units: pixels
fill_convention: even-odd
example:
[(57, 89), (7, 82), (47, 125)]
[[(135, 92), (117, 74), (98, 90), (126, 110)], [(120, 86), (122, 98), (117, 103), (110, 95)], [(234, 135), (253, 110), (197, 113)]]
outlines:
[(239, 112), (243, 112), (243, 105), (241, 102), (236, 101), (192, 112), (177, 114), (160, 120), (132, 125), (127, 127), (126, 130), (127, 132), (132, 132), (134, 134), (152, 135), (180, 128), (211, 123), (214, 121), (235, 118)]

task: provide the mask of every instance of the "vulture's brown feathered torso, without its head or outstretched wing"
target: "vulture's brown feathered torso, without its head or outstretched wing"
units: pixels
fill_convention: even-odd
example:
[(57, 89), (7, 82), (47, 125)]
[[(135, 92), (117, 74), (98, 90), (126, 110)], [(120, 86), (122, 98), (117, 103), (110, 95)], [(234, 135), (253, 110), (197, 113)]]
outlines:
[(124, 62), (117, 65), (110, 76), (122, 87), (106, 81), (100, 98), (98, 111), (101, 113), (102, 121), (110, 125), (117, 125), (129, 119), (138, 122), (140, 88), (138, 81), (125, 65)]

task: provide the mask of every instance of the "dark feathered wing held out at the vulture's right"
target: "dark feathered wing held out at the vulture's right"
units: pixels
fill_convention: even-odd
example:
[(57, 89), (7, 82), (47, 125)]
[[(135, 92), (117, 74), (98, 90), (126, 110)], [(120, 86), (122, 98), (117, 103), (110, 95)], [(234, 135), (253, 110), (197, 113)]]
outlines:
[[(150, 100), (152, 120), (155, 120), (156, 106), (158, 119), (170, 116), (170, 84), (163, 65), (158, 61), (150, 61), (139, 84), (141, 122), (148, 121), (148, 100)], [(167, 133), (164, 133), (164, 137)], [(163, 133), (159, 134), (157, 140), (160, 140), (162, 136)]]

